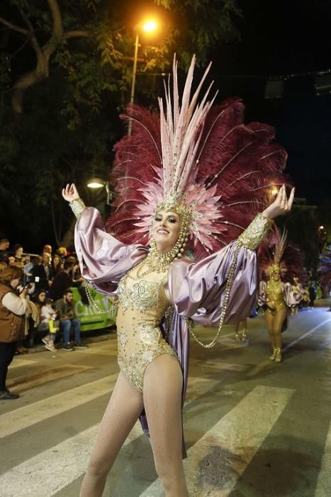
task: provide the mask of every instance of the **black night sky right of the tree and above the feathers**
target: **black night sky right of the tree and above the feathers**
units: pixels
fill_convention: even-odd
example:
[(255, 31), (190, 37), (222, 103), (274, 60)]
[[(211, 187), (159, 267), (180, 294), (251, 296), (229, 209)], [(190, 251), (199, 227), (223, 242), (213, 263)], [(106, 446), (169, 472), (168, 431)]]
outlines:
[[(213, 53), (221, 97), (245, 99), (247, 120), (276, 126), (288, 151), (296, 196), (331, 201), (331, 94), (317, 96), (315, 77), (331, 70), (331, 2), (242, 0), (241, 41)], [(264, 99), (269, 77), (287, 76), (282, 99)], [(331, 90), (331, 87), (330, 87)]]

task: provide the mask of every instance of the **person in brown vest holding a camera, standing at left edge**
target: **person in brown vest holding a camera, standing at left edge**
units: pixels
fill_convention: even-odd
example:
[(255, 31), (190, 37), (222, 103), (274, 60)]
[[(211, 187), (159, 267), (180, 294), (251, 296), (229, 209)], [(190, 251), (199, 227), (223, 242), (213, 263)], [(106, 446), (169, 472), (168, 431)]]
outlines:
[(6, 378), (18, 341), (25, 337), (25, 317), (30, 308), (28, 288), (23, 288), (19, 296), (16, 293), (22, 278), (23, 270), (16, 266), (0, 271), (0, 401), (19, 397), (6, 387)]

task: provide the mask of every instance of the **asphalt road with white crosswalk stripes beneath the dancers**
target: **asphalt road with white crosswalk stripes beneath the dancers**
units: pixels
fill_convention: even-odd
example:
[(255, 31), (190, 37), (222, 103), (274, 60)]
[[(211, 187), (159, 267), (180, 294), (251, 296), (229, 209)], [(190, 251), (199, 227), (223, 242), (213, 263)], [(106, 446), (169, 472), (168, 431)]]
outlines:
[[(196, 329), (212, 337), (213, 329)], [(211, 350), (191, 342), (184, 407), (190, 496), (331, 496), (331, 312), (303, 310), (284, 333), (284, 361), (268, 360), (264, 318), (249, 342), (225, 327)], [(115, 334), (89, 349), (16, 356), (0, 401), (0, 496), (72, 497), (118, 374)], [(140, 426), (120, 452), (104, 496), (159, 497)], [(180, 497), (180, 496), (178, 496)]]

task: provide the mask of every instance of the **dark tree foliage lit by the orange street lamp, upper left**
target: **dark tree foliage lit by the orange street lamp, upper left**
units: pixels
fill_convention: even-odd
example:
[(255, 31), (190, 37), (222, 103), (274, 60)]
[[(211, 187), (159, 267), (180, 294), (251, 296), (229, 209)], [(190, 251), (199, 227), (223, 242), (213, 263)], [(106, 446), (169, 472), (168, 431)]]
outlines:
[(204, 65), (217, 43), (237, 38), (236, 0), (3, 0), (0, 4), (0, 232), (26, 250), (69, 243), (72, 216), (60, 197), (92, 174), (108, 177), (125, 133), (118, 114), (130, 95), (142, 13), (162, 28), (140, 35), (135, 99), (155, 103), (174, 51), (182, 67)]

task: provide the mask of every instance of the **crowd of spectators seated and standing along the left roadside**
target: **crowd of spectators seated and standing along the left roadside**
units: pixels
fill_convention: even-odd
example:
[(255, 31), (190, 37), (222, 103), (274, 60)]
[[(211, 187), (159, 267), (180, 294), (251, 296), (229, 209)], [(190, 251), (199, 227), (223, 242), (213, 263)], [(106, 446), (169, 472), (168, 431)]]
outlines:
[[(24, 290), (26, 300), (33, 302), (39, 314), (37, 325), (30, 322), (26, 345), (33, 346), (35, 332), (38, 331), (45, 332), (43, 343), (52, 352), (56, 351), (59, 337), (62, 338), (64, 350), (86, 348), (80, 339), (80, 322), (74, 312), (73, 294), (70, 290), (83, 283), (75, 254), (68, 253), (65, 247), (59, 247), (53, 252), (50, 244), (46, 244), (40, 254), (30, 254), (24, 251), (21, 244), (11, 246), (9, 239), (2, 237), (0, 280), (2, 271), (8, 268), (19, 268), (22, 271), (20, 283), (16, 288), (10, 288), (11, 293), (20, 296), (20, 292)], [(71, 332), (74, 334), (73, 342), (70, 342)], [(16, 351), (27, 351), (21, 341), (17, 342)]]

